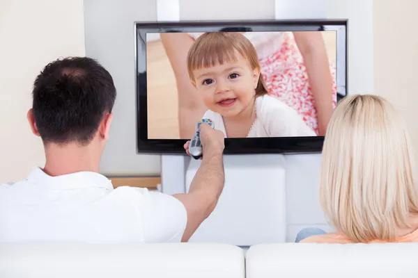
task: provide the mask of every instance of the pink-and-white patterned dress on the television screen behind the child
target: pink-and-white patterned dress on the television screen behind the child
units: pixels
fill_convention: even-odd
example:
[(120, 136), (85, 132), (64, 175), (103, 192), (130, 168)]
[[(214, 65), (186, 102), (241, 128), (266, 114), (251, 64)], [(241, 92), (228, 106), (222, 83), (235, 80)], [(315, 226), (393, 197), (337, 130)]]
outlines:
[[(302, 54), (297, 49), (293, 35), (286, 34), (281, 47), (272, 55), (260, 60), (261, 74), (268, 95), (277, 97), (291, 106), (316, 134), (318, 117), (314, 106), (314, 95), (309, 86), (307, 69)], [(330, 65), (332, 74), (333, 107), (336, 106), (336, 68)]]

